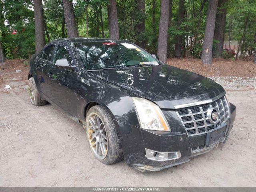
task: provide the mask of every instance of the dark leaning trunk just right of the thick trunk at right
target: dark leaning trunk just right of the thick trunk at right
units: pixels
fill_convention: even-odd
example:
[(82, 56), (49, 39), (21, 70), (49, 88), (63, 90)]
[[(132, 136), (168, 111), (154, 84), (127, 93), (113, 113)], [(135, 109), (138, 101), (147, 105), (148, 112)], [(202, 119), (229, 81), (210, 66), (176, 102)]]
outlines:
[(218, 2), (219, 10), (216, 15), (215, 30), (214, 30), (214, 36), (213, 36), (215, 40), (218, 40), (218, 43), (216, 44), (216, 47), (213, 47), (212, 49), (212, 55), (215, 58), (220, 58), (223, 50), (224, 33), (225, 33), (225, 27), (226, 27), (226, 14), (227, 14), (227, 8), (225, 7), (225, 3), (227, 1), (228, 0), (219, 0)]

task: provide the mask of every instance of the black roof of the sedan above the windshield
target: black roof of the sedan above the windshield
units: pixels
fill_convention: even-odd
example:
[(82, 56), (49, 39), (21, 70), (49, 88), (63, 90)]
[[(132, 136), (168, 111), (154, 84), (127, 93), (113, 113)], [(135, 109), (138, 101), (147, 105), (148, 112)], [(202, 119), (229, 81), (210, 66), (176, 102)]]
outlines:
[(66, 42), (115, 42), (122, 43), (128, 42), (128, 40), (115, 40), (108, 38), (84, 38), (84, 37), (76, 37), (76, 38), (60, 38), (53, 41), (66, 41)]

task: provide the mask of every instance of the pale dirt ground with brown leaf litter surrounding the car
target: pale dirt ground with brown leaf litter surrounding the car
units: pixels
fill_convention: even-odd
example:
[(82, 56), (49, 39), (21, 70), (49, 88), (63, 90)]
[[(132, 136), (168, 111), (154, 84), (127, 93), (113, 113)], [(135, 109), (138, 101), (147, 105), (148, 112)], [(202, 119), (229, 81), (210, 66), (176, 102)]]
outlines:
[[(168, 62), (227, 88), (237, 116), (226, 144), (160, 172), (138, 172), (124, 161), (106, 166), (93, 157), (80, 124), (50, 104), (30, 104), (26, 62), (9, 60), (0, 66), (0, 186), (256, 186), (256, 66), (218, 60), (202, 69), (198, 60)], [(222, 71), (226, 63), (232, 71)]]

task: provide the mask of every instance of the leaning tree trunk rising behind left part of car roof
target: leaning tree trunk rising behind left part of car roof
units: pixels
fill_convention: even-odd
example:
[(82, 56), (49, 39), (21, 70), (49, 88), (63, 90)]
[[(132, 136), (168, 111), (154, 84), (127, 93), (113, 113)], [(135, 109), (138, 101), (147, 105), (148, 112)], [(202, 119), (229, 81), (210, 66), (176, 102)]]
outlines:
[(62, 0), (62, 2), (68, 37), (78, 37), (73, 3), (70, 0)]

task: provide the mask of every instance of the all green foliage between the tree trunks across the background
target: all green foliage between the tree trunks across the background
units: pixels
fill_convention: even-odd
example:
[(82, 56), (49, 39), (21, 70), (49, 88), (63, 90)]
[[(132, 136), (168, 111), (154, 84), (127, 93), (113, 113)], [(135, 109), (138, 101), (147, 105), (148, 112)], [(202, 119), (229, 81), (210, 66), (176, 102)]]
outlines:
[[(153, 2), (145, 0), (145, 14), (137, 10), (138, 0), (116, 0), (120, 39), (132, 42), (145, 40), (146, 50), (156, 54), (160, 20), (160, 0), (155, 0), (155, 23)], [(182, 36), (182, 55), (200, 58), (206, 24), (208, 2), (202, 9), (203, 0), (185, 0), (185, 16), (178, 24), (179, 0), (172, 0), (172, 21), (168, 29), (168, 56), (175, 56), (177, 36)], [(86, 36), (86, 8), (88, 10), (89, 37), (109, 37), (107, 5), (109, 0), (73, 1), (79, 36)], [(225, 40), (239, 41), (249, 19), (245, 40), (242, 43), (244, 55), (256, 50), (256, 0), (228, 0)], [(66, 38), (62, 0), (43, 0), (44, 18), (50, 40)], [(0, 0), (0, 40), (7, 58), (29, 58), (35, 51), (34, 11), (32, 0)], [(102, 20), (101, 17), (102, 16)], [(146, 30), (138, 34), (138, 24), (145, 20)], [(4, 24), (5, 21), (5, 24)], [(17, 30), (17, 34), (12, 32)], [(196, 42), (194, 42), (196, 40)], [(213, 46), (216, 46), (214, 41)], [(226, 52), (223, 57), (228, 58)]]

